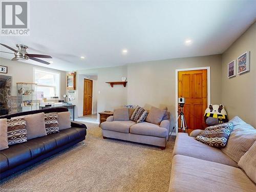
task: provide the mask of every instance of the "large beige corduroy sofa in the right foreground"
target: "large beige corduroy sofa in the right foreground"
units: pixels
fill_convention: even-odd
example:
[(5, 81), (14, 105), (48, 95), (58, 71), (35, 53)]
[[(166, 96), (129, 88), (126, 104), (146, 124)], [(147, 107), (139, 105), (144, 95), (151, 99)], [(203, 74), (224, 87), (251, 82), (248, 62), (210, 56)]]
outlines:
[[(256, 130), (239, 117), (234, 117), (231, 121), (233, 131), (227, 145), (221, 150), (197, 141), (195, 137), (200, 131), (194, 131), (190, 136), (178, 133), (169, 192), (256, 191), (255, 180), (253, 182), (250, 179), (255, 179), (256, 176), (256, 144), (253, 145)], [(249, 149), (252, 152), (250, 155), (246, 153)], [(247, 170), (240, 167), (245, 156)]]

